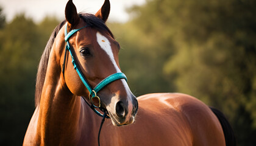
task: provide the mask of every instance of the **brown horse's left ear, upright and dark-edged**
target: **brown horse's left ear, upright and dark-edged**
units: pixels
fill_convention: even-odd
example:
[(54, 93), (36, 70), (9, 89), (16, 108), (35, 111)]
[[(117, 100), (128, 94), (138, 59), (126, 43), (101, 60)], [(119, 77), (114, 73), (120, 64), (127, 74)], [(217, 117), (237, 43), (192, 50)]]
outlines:
[(79, 23), (76, 6), (73, 4), (72, 0), (69, 0), (68, 3), (66, 3), (65, 17), (66, 21), (68, 21), (69, 27), (76, 26), (76, 24)]

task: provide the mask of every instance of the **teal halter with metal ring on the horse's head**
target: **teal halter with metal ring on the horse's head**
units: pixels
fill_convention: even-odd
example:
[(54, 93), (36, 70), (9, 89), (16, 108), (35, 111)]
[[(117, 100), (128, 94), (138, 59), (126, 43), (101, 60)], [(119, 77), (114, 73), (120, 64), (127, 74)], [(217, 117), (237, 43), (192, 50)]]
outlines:
[[(101, 117), (107, 117), (107, 114), (105, 114), (105, 111), (104, 111), (104, 115), (99, 113), (99, 111), (97, 111), (95, 108), (99, 108), (101, 109), (101, 99), (97, 96), (97, 92), (99, 92), (102, 88), (104, 88), (105, 86), (107, 86), (108, 84), (114, 82), (115, 80), (120, 80), (120, 79), (125, 79), (126, 82), (127, 82), (127, 78), (126, 78), (126, 75), (124, 75), (123, 72), (117, 72), (115, 74), (112, 74), (112, 75), (109, 75), (107, 78), (105, 78), (104, 80), (102, 80), (100, 83), (98, 83), (98, 85), (96, 85), (93, 88), (91, 88), (91, 86), (89, 85), (89, 83), (87, 82), (87, 80), (85, 79), (84, 75), (82, 74), (82, 71), (80, 70), (79, 68), (79, 65), (77, 64), (77, 61), (76, 61), (76, 57), (74, 57), (74, 52), (73, 52), (73, 49), (71, 49), (70, 47), (70, 44), (68, 42), (69, 38), (74, 34), (76, 33), (77, 31), (79, 31), (80, 29), (84, 29), (85, 27), (88, 27), (88, 26), (84, 26), (80, 29), (73, 29), (71, 30), (69, 33), (68, 33), (68, 29), (67, 29), (67, 24), (65, 26), (65, 41), (66, 41), (66, 49), (65, 49), (65, 56), (64, 56), (64, 61), (63, 61), (63, 65), (62, 65), (62, 73), (64, 75), (64, 72), (65, 72), (65, 63), (66, 63), (66, 54), (67, 54), (67, 50), (69, 50), (69, 53), (71, 55), (71, 58), (72, 58), (72, 64), (74, 66), (74, 69), (76, 69), (76, 72), (77, 74), (79, 75), (80, 79), (82, 80), (82, 82), (84, 83), (85, 87), (88, 89), (88, 91), (90, 92), (89, 94), (89, 100), (91, 102), (91, 109), (93, 109), (93, 111), (98, 114), (99, 116)], [(92, 102), (92, 99), (93, 98), (96, 98), (99, 100), (99, 106), (95, 106), (93, 105), (93, 102)], [(83, 97), (84, 99), (84, 97)], [(87, 102), (85, 100), (85, 102)], [(88, 103), (87, 103), (88, 104)], [(101, 109), (102, 110), (102, 109)]]

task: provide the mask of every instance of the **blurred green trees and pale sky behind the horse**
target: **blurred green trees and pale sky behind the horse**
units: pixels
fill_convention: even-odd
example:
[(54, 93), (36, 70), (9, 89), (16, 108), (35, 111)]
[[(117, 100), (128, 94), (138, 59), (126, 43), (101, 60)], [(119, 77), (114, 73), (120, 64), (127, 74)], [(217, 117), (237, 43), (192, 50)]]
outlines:
[[(22, 144), (35, 109), (38, 63), (64, 18), (66, 1), (29, 2), (0, 1), (0, 145)], [(104, 1), (79, 2), (78, 11), (96, 13)], [(136, 96), (190, 94), (226, 114), (239, 145), (256, 145), (256, 1), (110, 3), (107, 25)]]

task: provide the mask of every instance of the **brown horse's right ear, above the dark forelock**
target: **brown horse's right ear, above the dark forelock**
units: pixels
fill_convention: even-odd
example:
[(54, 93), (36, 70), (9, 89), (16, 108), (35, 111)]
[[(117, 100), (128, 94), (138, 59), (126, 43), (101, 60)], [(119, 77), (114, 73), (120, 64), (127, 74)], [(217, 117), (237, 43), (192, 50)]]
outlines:
[(105, 0), (104, 4), (102, 5), (101, 9), (95, 14), (98, 18), (102, 19), (104, 22), (107, 21), (108, 15), (110, 12), (110, 2), (109, 0)]

